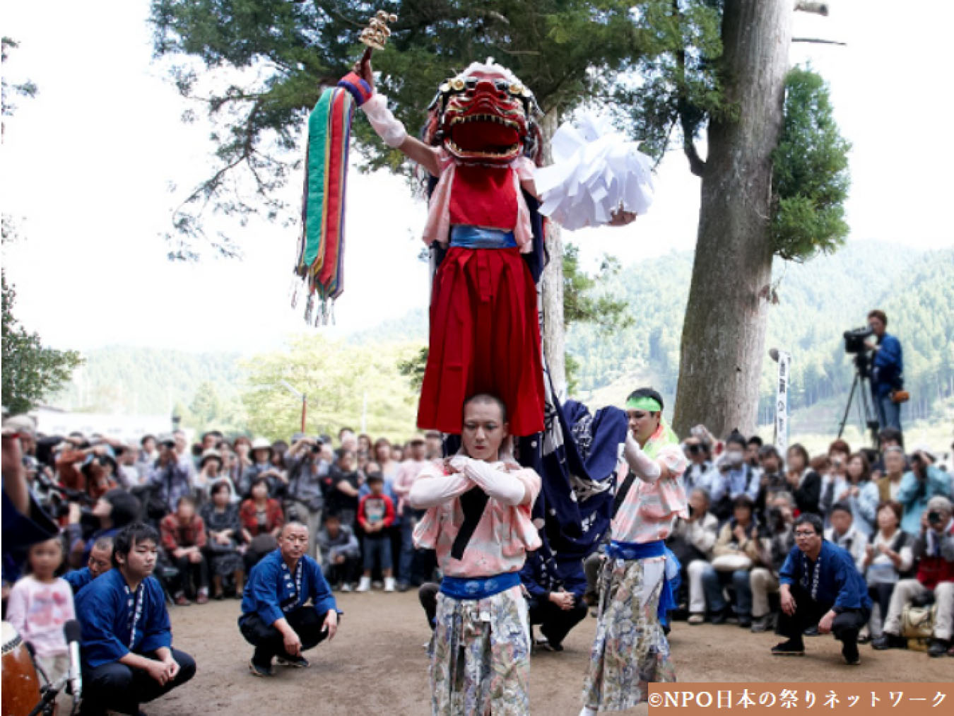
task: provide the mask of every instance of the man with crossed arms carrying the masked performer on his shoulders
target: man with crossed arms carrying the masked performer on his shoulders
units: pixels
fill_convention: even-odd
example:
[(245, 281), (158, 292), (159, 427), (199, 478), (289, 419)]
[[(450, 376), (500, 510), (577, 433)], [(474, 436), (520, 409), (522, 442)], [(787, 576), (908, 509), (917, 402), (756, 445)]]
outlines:
[(530, 506), (540, 477), (509, 454), (508, 415), (481, 394), (463, 411), (463, 447), (428, 465), (408, 501), (427, 509), (414, 533), (444, 573), (429, 646), (435, 716), (529, 713), (530, 635), (520, 569), (540, 546)]

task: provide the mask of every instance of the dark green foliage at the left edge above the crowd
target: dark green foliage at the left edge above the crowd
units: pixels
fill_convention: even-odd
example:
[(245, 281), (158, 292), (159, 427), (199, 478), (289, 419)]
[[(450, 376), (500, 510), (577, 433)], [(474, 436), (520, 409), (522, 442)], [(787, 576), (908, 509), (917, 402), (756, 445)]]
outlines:
[(36, 333), (30, 333), (13, 317), (16, 292), (3, 284), (3, 404), (11, 413), (37, 406), (45, 396), (69, 382), (73, 369), (83, 361), (75, 350), (44, 347)]

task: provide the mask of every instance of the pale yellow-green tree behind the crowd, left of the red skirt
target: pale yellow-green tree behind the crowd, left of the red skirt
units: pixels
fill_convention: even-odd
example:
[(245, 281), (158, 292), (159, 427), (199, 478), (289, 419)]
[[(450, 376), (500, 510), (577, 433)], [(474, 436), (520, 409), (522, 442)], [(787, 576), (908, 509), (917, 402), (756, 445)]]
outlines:
[(308, 396), (307, 432), (358, 428), (366, 394), (367, 432), (404, 440), (414, 429), (417, 399), (397, 365), (419, 350), (394, 344), (355, 347), (308, 336), (292, 340), (287, 350), (243, 361), (241, 399), (248, 429), (286, 440), (300, 429), (301, 403), (280, 385), (286, 380)]

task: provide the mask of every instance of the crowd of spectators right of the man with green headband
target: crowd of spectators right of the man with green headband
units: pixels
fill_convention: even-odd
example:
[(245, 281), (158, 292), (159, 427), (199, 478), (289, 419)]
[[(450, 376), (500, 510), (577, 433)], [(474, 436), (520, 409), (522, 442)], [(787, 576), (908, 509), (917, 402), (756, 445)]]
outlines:
[(904, 615), (933, 604), (932, 633), (921, 644), (931, 656), (954, 655), (954, 481), (930, 449), (906, 453), (894, 429), (879, 437), (879, 450), (853, 451), (839, 439), (811, 457), (798, 444), (780, 455), (757, 436), (717, 440), (694, 429), (683, 441), (690, 515), (676, 520), (668, 540), (684, 574), (675, 618), (775, 628), (792, 526), (814, 514), (824, 538), (851, 556), (875, 604), (860, 641), (906, 646)]

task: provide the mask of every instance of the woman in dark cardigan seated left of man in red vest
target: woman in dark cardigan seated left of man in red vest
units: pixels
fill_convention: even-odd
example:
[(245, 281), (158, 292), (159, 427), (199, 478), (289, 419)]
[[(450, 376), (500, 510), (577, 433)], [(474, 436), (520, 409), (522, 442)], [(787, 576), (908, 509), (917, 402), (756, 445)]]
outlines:
[[(902, 506), (895, 501), (882, 502), (878, 506), (878, 532), (864, 545), (864, 579), (868, 595), (876, 604), (880, 623), (888, 614), (891, 594), (899, 579), (906, 578), (914, 563), (911, 549), (913, 538), (901, 529)], [(871, 624), (871, 634), (881, 636), (881, 628)]]

